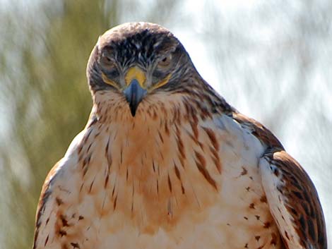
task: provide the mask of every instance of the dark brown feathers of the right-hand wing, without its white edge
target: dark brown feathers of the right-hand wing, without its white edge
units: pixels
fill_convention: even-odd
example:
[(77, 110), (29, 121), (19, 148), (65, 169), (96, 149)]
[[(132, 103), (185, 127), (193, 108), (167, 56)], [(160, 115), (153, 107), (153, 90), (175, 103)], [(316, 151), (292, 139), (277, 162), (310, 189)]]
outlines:
[[(269, 150), (263, 156), (280, 172), (286, 209), (292, 216), (295, 231), (303, 248), (326, 249), (326, 226), (318, 193), (302, 166), (285, 151)], [(287, 242), (287, 233), (281, 233)], [(287, 243), (286, 243), (287, 244)]]

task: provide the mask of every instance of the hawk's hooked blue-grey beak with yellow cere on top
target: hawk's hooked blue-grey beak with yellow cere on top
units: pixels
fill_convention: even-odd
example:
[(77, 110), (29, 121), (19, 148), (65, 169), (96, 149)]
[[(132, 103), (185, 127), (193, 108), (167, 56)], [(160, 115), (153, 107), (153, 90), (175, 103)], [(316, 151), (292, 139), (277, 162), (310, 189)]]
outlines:
[(138, 104), (141, 103), (143, 97), (146, 96), (147, 90), (145, 87), (146, 75), (137, 67), (130, 68), (125, 77), (126, 89), (124, 96), (129, 103), (131, 115), (134, 117)]

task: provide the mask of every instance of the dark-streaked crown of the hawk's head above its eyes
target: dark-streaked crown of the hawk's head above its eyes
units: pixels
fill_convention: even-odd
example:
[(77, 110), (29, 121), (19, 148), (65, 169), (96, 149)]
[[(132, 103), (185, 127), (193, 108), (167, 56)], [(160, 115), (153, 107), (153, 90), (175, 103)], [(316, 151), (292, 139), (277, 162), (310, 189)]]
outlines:
[(177, 38), (160, 25), (125, 23), (105, 32), (97, 46), (118, 61), (143, 58), (148, 62), (155, 56), (174, 51), (178, 44)]

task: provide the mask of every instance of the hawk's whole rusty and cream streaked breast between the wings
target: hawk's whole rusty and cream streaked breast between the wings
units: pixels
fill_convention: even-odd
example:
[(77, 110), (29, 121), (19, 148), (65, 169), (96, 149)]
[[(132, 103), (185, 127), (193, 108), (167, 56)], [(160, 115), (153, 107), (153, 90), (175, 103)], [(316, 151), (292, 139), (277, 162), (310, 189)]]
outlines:
[[(58, 208), (59, 238), (81, 234), (95, 241), (92, 231), (98, 231), (98, 240), (127, 247), (134, 240), (148, 248), (145, 243), (152, 246), (153, 240), (167, 236), (165, 246), (195, 248), (191, 237), (208, 233), (208, 248), (235, 240), (237, 248), (278, 248), (280, 237), (261, 188), (257, 159), (241, 154), (251, 153), (241, 135), (212, 119), (146, 118), (143, 107), (135, 119), (125, 112), (100, 116), (87, 128), (77, 148), (78, 166), (71, 169), (78, 186), (71, 204), (61, 198)], [(163, 109), (173, 111), (166, 117), (182, 112), (165, 104), (155, 107), (157, 113)], [(235, 238), (237, 233), (243, 237)], [(144, 236), (134, 239), (135, 234)]]

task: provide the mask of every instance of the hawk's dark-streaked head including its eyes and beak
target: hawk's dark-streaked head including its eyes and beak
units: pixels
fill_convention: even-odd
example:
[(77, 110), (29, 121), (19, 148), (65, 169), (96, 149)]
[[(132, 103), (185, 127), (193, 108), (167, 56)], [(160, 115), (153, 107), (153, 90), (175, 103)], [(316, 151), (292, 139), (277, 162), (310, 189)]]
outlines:
[(151, 95), (179, 92), (193, 72), (196, 70), (179, 40), (153, 23), (125, 23), (105, 32), (87, 68), (93, 95), (98, 91), (121, 95), (132, 116)]

